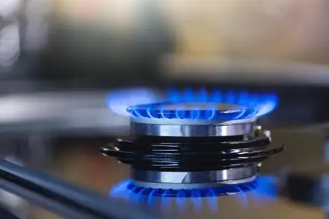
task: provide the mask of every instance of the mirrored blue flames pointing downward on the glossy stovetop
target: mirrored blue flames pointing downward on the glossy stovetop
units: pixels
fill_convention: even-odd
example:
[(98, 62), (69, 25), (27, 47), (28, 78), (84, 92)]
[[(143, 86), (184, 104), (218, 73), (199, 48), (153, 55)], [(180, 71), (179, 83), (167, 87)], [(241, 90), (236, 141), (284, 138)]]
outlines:
[(256, 198), (257, 203), (263, 203), (265, 197), (276, 198), (276, 178), (271, 176), (258, 177), (256, 181), (251, 183), (228, 185), (225, 188), (206, 188), (199, 190), (140, 188), (133, 185), (132, 181), (128, 179), (115, 185), (110, 190), (110, 196), (134, 202), (145, 202), (149, 206), (154, 206), (158, 200), (160, 207), (166, 209), (171, 207), (173, 201), (175, 207), (180, 211), (184, 211), (188, 205), (193, 205), (195, 211), (201, 211), (203, 207), (206, 207), (210, 211), (216, 211), (218, 207), (217, 198), (223, 195), (234, 195), (243, 207), (247, 207), (248, 196), (246, 192), (250, 192)]

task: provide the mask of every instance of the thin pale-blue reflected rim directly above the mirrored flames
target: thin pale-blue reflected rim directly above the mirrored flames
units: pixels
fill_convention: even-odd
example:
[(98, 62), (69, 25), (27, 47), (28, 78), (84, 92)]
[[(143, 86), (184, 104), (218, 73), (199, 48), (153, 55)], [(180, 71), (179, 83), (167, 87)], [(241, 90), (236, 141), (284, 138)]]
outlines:
[(257, 179), (257, 175), (245, 179), (236, 179), (231, 181), (213, 182), (213, 183), (151, 183), (145, 181), (138, 181), (132, 179), (132, 184), (143, 187), (162, 190), (193, 190), (193, 189), (208, 189), (220, 188), (230, 185), (240, 185), (244, 183), (251, 183)]

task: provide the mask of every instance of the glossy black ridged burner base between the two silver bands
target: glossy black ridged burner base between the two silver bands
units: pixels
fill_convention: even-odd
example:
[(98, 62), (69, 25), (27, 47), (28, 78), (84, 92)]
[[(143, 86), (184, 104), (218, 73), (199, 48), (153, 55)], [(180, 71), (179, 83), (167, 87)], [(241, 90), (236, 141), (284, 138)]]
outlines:
[(284, 150), (271, 149), (267, 136), (233, 137), (156, 137), (117, 140), (101, 153), (117, 158), (137, 170), (196, 172), (228, 170), (257, 165)]

